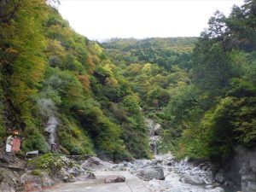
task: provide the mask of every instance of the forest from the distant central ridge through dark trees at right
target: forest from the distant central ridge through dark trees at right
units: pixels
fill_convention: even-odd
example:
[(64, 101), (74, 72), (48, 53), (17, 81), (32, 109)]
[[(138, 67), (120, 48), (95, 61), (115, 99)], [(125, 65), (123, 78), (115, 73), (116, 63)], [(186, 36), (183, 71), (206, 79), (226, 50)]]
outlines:
[(255, 27), (256, 1), (247, 0), (228, 17), (217, 11), (198, 41), (102, 44), (141, 98), (143, 112), (163, 126), (162, 152), (224, 160), (238, 146), (255, 148)]

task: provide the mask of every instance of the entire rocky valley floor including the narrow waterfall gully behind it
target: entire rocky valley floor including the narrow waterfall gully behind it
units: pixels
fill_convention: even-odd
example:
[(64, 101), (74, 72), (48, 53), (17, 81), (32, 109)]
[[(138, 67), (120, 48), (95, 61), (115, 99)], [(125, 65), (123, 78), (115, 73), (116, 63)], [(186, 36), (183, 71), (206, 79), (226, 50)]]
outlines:
[(230, 180), (235, 177), (235, 173), (230, 172), (230, 165), (226, 169), (216, 169), (207, 161), (175, 160), (172, 154), (158, 155), (161, 126), (151, 119), (145, 119), (145, 122), (154, 154), (152, 160), (114, 164), (97, 157), (44, 154), (26, 162), (13, 154), (0, 153), (0, 192), (256, 191), (255, 153), (237, 149), (236, 162), (230, 162), (236, 167), (238, 179), (235, 184)]

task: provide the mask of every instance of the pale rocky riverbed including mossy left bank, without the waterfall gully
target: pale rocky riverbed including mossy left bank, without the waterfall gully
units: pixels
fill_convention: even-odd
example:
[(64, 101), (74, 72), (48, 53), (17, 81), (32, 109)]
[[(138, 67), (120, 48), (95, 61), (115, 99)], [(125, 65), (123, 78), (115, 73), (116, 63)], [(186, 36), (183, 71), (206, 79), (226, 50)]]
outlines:
[[(188, 160), (177, 161), (172, 154), (155, 155), (153, 160), (123, 161), (119, 164), (96, 157), (71, 160), (66, 156), (47, 154), (40, 158), (28, 163), (28, 170), (23, 173), (1, 169), (0, 191), (236, 192), (240, 190), (232, 186), (227, 188), (220, 185), (218, 179), (213, 177), (212, 165), (209, 162), (195, 165)], [(104, 179), (113, 176), (125, 177), (125, 181), (104, 183)], [(140, 189), (137, 189), (137, 186), (140, 186)], [(253, 192), (253, 190), (247, 191)]]

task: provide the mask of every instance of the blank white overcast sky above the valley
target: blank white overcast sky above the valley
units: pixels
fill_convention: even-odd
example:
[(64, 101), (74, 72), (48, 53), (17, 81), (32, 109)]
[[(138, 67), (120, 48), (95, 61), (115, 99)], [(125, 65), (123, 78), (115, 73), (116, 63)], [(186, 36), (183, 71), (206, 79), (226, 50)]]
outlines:
[(61, 0), (59, 11), (90, 39), (199, 36), (218, 9), (242, 0)]

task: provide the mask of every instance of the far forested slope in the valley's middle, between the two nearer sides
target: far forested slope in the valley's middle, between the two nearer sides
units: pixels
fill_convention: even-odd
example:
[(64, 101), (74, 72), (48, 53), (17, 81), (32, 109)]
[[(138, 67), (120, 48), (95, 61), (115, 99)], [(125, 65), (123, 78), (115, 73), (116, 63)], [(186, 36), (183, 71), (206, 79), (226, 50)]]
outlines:
[(162, 126), (162, 141), (157, 144), (160, 152), (175, 152), (178, 146), (177, 137), (182, 131), (172, 128), (166, 106), (192, 84), (189, 72), (196, 41), (197, 38), (117, 38), (102, 43), (120, 73), (131, 82), (145, 116)]

